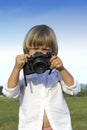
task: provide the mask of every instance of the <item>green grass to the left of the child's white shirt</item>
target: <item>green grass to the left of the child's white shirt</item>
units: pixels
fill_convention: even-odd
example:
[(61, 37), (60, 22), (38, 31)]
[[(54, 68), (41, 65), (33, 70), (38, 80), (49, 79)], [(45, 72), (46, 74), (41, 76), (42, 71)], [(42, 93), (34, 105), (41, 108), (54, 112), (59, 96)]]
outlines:
[(0, 130), (17, 130), (18, 99), (0, 97)]

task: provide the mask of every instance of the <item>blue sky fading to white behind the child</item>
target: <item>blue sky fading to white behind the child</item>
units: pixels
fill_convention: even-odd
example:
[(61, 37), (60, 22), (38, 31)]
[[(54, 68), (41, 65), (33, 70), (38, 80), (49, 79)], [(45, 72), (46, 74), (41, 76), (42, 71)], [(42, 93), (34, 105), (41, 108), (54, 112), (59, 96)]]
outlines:
[(64, 66), (81, 83), (87, 83), (86, 0), (0, 0), (0, 84), (5, 84), (22, 53), (27, 31), (47, 24), (57, 36)]

